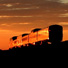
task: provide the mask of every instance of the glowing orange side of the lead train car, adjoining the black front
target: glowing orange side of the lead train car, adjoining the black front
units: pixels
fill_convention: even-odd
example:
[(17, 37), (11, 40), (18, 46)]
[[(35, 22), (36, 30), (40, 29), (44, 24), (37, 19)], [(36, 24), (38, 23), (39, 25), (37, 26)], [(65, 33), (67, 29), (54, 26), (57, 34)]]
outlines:
[(34, 30), (34, 32), (29, 34), (29, 43), (33, 45), (36, 45), (36, 42), (40, 42), (45, 39), (49, 39), (48, 28), (40, 29), (38, 31)]

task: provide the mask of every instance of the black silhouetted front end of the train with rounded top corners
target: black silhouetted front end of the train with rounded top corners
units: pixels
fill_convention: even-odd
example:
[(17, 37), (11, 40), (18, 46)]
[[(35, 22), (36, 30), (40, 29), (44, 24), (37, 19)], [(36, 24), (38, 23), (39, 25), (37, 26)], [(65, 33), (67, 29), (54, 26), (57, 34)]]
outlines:
[(63, 39), (63, 27), (60, 25), (49, 26), (49, 40), (52, 43), (59, 43)]

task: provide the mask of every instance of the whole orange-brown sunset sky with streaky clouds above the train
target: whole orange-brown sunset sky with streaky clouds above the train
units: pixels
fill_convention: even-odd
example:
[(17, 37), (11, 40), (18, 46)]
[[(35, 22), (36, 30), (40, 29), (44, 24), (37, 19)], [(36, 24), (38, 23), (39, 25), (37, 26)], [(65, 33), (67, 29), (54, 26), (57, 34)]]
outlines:
[(68, 0), (0, 0), (0, 49), (8, 49), (13, 36), (53, 24), (63, 26), (68, 40)]

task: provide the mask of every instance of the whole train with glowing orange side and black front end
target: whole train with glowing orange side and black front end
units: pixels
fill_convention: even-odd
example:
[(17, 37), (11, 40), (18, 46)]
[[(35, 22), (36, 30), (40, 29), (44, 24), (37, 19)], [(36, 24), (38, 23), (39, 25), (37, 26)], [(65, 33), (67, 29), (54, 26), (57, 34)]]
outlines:
[(49, 40), (51, 43), (61, 42), (63, 38), (63, 28), (60, 25), (51, 25), (48, 28), (37, 28), (31, 31), (30, 34), (22, 34), (14, 36), (10, 39), (10, 48), (14, 46), (28, 46), (28, 44), (36, 44), (44, 40)]

